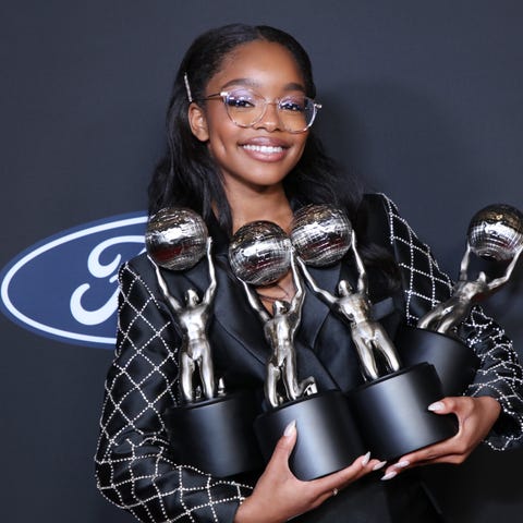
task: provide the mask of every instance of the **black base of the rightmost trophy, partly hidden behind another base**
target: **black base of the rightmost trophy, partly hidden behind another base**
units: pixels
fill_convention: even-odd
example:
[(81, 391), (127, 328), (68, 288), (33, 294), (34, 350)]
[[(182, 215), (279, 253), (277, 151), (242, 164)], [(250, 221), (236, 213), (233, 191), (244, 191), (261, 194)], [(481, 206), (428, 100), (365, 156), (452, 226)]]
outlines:
[(446, 397), (461, 396), (479, 366), (479, 358), (470, 346), (431, 330), (403, 326), (394, 344), (405, 366), (427, 362), (436, 367)]

